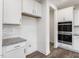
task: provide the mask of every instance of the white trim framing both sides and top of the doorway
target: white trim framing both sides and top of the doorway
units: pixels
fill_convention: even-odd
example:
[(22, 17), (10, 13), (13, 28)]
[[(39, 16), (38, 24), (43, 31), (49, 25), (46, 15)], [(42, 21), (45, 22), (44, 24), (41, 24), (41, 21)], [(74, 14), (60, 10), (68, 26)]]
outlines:
[(49, 53), (50, 53), (50, 25), (49, 25), (49, 22), (50, 22), (50, 20), (49, 20), (49, 7), (51, 7), (53, 10), (54, 10), (54, 24), (55, 24), (55, 28), (54, 28), (54, 32), (55, 32), (55, 34), (54, 34), (54, 36), (55, 36), (55, 39), (54, 39), (54, 48), (57, 48), (58, 47), (58, 41), (57, 41), (57, 8), (53, 5), (53, 4), (47, 4), (47, 8), (48, 8), (48, 10), (47, 10), (47, 13), (48, 13), (48, 20), (47, 20), (47, 37), (46, 37), (46, 54), (45, 55), (48, 55)]

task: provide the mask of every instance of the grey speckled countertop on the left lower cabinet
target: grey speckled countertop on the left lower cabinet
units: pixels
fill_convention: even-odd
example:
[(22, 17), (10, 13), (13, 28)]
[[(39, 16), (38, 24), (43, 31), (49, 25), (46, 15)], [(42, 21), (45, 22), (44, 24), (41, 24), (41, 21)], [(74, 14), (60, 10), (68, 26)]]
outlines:
[(13, 45), (13, 44), (17, 44), (20, 42), (25, 42), (26, 40), (20, 37), (16, 37), (16, 38), (7, 38), (7, 39), (3, 39), (2, 41), (2, 46), (9, 46), (9, 45)]

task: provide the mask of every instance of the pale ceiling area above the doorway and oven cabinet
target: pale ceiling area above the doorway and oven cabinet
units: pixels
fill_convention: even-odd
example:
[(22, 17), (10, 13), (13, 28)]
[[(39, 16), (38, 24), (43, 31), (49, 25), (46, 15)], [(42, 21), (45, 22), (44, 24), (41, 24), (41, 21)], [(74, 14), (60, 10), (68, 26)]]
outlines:
[(64, 8), (72, 5), (79, 4), (79, 0), (50, 0), (58, 8)]

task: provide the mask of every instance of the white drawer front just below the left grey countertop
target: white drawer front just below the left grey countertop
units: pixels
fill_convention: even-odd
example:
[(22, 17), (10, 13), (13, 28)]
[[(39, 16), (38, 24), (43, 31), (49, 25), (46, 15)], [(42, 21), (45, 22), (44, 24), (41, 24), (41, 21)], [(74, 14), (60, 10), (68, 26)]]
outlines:
[(23, 46), (25, 46), (25, 42), (14, 44), (14, 45), (10, 45), (10, 46), (5, 47), (5, 50), (6, 50), (5, 52), (9, 52), (9, 51), (21, 48)]

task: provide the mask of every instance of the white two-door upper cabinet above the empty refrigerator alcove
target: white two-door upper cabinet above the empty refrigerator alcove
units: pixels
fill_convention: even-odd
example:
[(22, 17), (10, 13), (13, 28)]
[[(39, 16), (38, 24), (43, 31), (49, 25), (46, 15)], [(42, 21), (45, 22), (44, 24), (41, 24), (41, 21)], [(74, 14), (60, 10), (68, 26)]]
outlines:
[(36, 0), (23, 0), (23, 13), (41, 17), (41, 3)]

